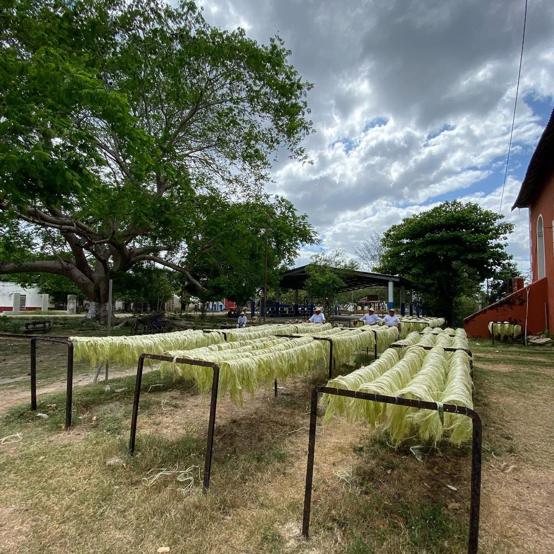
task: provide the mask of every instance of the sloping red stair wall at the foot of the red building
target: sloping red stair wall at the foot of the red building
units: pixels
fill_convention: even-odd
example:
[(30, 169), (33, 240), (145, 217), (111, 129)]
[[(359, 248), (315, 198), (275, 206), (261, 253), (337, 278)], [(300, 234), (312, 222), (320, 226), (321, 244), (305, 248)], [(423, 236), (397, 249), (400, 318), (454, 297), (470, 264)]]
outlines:
[[(464, 319), (464, 329), (469, 337), (488, 337), (490, 321), (510, 321), (527, 329), (527, 335), (545, 330), (545, 304), (547, 302), (547, 278), (540, 279), (505, 296)], [(552, 306), (552, 301), (550, 302)], [(550, 330), (554, 327), (549, 327)]]

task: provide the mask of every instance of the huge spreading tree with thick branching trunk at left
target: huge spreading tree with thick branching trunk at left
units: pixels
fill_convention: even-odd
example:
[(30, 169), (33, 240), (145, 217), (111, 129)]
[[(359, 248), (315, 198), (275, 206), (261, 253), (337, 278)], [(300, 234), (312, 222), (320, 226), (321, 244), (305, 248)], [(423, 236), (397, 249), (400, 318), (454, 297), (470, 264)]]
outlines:
[(307, 161), (311, 85), (283, 42), (210, 27), (192, 2), (6, 0), (0, 18), (0, 225), (35, 253), (0, 274), (64, 275), (91, 316), (109, 272), (142, 261), (206, 290), (187, 243), (202, 198), (264, 203), (279, 149)]

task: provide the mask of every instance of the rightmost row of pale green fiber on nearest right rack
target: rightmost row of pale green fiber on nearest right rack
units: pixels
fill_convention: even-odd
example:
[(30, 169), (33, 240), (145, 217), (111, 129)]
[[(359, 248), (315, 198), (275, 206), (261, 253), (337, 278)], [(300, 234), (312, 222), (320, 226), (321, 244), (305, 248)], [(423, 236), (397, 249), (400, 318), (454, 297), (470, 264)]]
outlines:
[[(450, 353), (445, 353), (448, 354)], [(463, 350), (459, 350), (449, 356), (444, 389), (432, 401), (473, 408), (472, 389), (469, 356)], [(438, 442), (445, 434), (450, 442), (460, 445), (464, 440), (471, 438), (471, 419), (467, 416), (445, 412), (444, 424), (440, 421), (438, 413), (430, 410), (420, 410), (409, 417), (411, 423), (418, 427), (419, 435), (424, 440), (434, 438), (435, 442)]]

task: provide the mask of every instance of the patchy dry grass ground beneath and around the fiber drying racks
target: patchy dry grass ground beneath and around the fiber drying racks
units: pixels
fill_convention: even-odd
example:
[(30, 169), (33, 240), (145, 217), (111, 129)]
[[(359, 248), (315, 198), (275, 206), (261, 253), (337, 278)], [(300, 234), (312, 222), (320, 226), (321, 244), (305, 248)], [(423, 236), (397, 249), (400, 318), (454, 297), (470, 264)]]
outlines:
[[(470, 347), (484, 424), (480, 552), (551, 551), (554, 348), (486, 340)], [(25, 374), (18, 348), (12, 343), (1, 357), (19, 360)], [(44, 365), (59, 365), (61, 357), (44, 352)], [(54, 371), (63, 375), (63, 361)], [(134, 457), (127, 453), (132, 376), (110, 380), (109, 392), (102, 384), (76, 387), (70, 432), (60, 430), (61, 393), (39, 397), (48, 419), (37, 419), (27, 404), (9, 409), (0, 414), (0, 438), (22, 438), (0, 446), (0, 551), (466, 551), (470, 449), (417, 441), (393, 449), (367, 426), (341, 418), (318, 428), (310, 539), (299, 537), (307, 407), (325, 373), (321, 366), (291, 379), (276, 399), (268, 388), (242, 407), (228, 397), (219, 403), (207, 495), (201, 474), (209, 402), (191, 383), (157, 371), (143, 377)], [(192, 491), (177, 474), (146, 486), (145, 476), (165, 468), (188, 469)]]

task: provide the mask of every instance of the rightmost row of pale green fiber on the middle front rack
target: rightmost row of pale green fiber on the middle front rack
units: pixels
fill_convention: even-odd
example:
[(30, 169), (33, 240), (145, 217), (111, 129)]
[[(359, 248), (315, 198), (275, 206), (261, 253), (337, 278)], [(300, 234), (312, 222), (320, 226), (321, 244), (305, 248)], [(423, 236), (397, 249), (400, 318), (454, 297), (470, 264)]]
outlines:
[[(258, 343), (257, 346), (264, 346)], [(245, 351), (245, 348), (253, 347)], [(190, 352), (165, 352), (172, 358), (188, 357)], [(229, 391), (232, 402), (242, 403), (243, 391), (254, 393), (260, 384), (274, 379), (285, 381), (287, 377), (306, 372), (325, 356), (321, 341), (311, 337), (283, 339), (270, 345), (257, 348), (246, 345), (228, 348), (218, 352), (205, 352), (194, 359), (214, 362), (220, 368), (218, 396), (223, 397)], [(173, 371), (176, 377), (193, 379), (201, 392), (207, 392), (212, 386), (213, 370), (209, 367), (162, 362), (162, 372)]]

